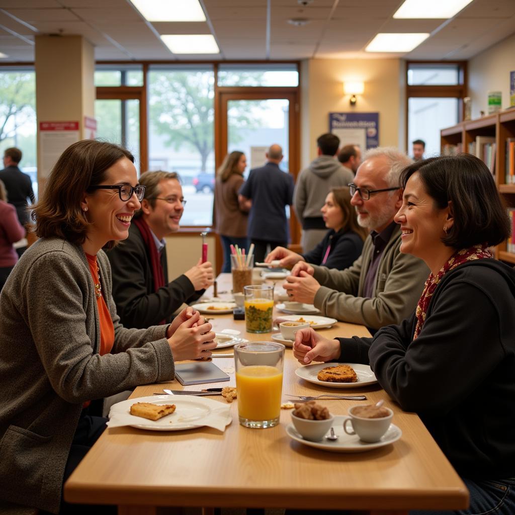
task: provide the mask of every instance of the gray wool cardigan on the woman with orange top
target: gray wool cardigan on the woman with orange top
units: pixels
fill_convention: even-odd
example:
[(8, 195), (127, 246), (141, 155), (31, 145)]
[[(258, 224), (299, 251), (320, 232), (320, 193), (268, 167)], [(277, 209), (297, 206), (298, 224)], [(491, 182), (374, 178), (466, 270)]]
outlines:
[(97, 303), (81, 247), (42, 238), (0, 295), (0, 499), (57, 513), (64, 467), (84, 401), (173, 379), (167, 325), (125, 329), (99, 251), (102, 294), (114, 324), (100, 356)]

